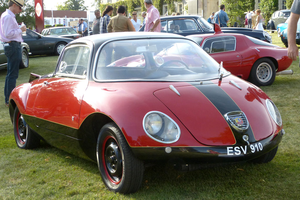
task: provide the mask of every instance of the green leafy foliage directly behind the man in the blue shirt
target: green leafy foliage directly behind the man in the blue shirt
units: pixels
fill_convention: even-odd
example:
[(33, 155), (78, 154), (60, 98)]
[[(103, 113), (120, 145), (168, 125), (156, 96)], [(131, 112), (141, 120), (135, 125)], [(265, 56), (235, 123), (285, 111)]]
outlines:
[(243, 26), (245, 19), (244, 12), (253, 10), (255, 0), (223, 0), (222, 4), (225, 5), (225, 11), (228, 14), (229, 25), (233, 26), (235, 22)]

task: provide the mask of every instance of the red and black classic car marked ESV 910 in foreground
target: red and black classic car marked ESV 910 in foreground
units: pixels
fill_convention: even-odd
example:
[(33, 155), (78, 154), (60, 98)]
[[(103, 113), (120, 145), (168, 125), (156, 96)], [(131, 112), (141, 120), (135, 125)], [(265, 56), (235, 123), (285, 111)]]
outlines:
[(10, 95), (19, 148), (40, 140), (98, 163), (114, 192), (133, 193), (148, 163), (181, 170), (270, 162), (284, 134), (278, 109), (194, 41), (108, 33), (67, 44), (53, 73)]

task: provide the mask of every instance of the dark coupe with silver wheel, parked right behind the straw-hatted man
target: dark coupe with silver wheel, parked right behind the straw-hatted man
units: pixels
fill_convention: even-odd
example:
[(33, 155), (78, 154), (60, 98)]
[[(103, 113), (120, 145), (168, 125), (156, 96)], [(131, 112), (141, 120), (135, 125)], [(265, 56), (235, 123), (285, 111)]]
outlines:
[(22, 35), (24, 42), (30, 47), (32, 55), (55, 53), (59, 55), (71, 38), (44, 36), (27, 28), (26, 35)]

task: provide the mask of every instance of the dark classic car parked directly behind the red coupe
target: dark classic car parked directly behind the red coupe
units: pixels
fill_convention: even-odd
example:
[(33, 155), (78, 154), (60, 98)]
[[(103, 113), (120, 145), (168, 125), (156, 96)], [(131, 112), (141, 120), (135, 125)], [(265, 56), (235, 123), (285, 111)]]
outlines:
[[(176, 15), (161, 17), (161, 32), (175, 33), (183, 36), (214, 33), (214, 27), (199, 15)], [(145, 25), (139, 31), (144, 31)], [(250, 28), (222, 28), (224, 33), (239, 33), (272, 43), (272, 37), (266, 31)]]

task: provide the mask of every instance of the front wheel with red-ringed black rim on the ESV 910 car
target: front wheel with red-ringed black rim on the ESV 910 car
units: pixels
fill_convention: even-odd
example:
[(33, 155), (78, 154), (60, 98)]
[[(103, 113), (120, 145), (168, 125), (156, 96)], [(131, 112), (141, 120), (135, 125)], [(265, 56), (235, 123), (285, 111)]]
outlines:
[(97, 163), (105, 186), (122, 194), (136, 192), (143, 181), (144, 164), (131, 152), (115, 123), (105, 124), (97, 140)]

